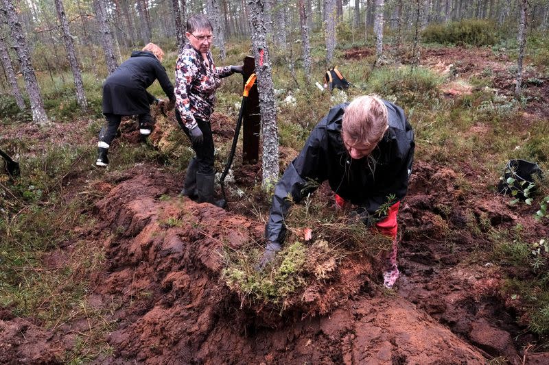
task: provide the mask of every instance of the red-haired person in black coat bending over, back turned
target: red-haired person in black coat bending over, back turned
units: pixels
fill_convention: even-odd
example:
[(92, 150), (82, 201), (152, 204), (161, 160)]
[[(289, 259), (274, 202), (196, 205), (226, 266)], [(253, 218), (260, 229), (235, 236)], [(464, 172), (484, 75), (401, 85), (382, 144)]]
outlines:
[(174, 86), (167, 77), (161, 62), (164, 52), (154, 43), (141, 51), (133, 51), (103, 84), (103, 114), (106, 125), (99, 134), (99, 153), (95, 164), (108, 166), (108, 148), (115, 138), (122, 116), (139, 116), (139, 133), (148, 136), (154, 125), (150, 115), (150, 104), (159, 103), (147, 88), (158, 79), (162, 90), (175, 103)]

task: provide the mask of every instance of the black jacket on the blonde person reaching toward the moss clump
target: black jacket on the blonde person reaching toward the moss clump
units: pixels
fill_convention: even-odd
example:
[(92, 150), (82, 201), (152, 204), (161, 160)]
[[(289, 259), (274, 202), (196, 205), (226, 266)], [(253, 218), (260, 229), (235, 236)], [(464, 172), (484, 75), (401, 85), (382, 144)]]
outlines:
[(283, 242), (286, 233), (283, 217), (291, 204), (288, 194), (299, 203), (315, 189), (312, 184), (306, 184), (309, 179), (318, 183), (327, 180), (336, 194), (369, 214), (386, 203), (390, 194), (395, 194), (397, 201), (404, 198), (414, 158), (414, 131), (401, 108), (389, 101), (384, 103), (389, 127), (372, 152), (376, 161), (373, 169), (367, 166), (367, 158), (351, 159), (343, 144), (341, 120), (349, 103), (331, 108), (314, 127), (305, 147), (286, 168), (274, 189), (265, 229), (267, 240)]

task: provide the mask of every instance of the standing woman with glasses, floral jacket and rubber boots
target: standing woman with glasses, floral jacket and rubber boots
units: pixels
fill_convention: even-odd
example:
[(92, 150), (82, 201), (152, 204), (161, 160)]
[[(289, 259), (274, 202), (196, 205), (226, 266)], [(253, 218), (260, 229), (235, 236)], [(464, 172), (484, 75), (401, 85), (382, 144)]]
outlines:
[(210, 116), (215, 103), (215, 90), (221, 79), (233, 73), (242, 73), (241, 66), (215, 67), (211, 56), (213, 27), (202, 14), (187, 21), (185, 45), (176, 62), (176, 119), (191, 140), (196, 156), (187, 166), (181, 194), (200, 203), (224, 207), (223, 200), (213, 198), (213, 136)]

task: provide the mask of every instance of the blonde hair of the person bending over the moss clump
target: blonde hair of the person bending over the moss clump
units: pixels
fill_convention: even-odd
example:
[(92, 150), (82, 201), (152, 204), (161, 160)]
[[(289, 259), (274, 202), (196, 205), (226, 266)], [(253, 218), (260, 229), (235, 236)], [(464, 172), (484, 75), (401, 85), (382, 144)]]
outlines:
[(341, 121), (341, 136), (348, 144), (373, 149), (388, 127), (387, 107), (377, 95), (351, 101)]

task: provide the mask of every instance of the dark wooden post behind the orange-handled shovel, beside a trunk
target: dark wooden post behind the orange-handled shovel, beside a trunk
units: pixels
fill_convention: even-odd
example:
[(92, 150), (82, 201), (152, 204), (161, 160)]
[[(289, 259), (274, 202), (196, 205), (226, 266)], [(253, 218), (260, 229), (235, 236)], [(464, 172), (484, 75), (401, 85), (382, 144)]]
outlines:
[[(244, 58), (244, 84), (255, 71), (255, 60), (252, 56)], [(250, 94), (244, 103), (242, 115), (242, 163), (255, 164), (259, 161), (259, 131), (261, 129), (261, 114), (259, 114), (259, 92), (257, 81), (250, 89)]]

